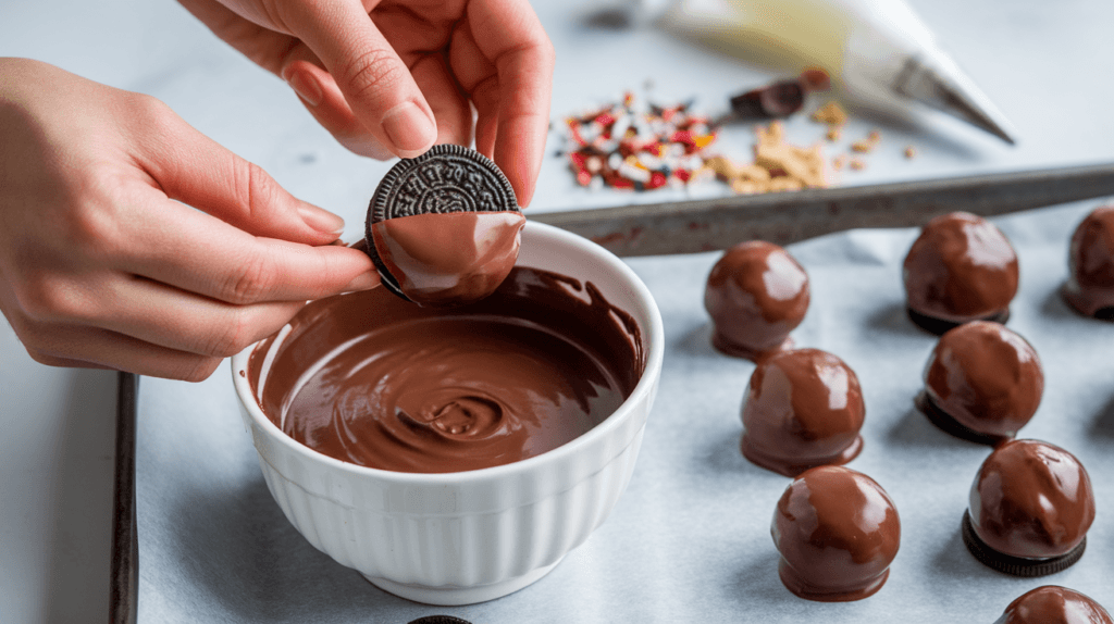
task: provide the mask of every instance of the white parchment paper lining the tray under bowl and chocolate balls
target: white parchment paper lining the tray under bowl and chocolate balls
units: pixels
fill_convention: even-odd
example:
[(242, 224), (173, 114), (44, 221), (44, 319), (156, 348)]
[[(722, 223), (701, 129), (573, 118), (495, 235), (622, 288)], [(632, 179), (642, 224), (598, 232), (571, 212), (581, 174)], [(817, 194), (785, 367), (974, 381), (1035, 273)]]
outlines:
[(1074, 453), (1097, 518), (1074, 567), (1037, 580), (984, 567), (959, 521), (989, 449), (936, 429), (912, 407), (935, 337), (903, 311), (900, 265), (916, 230), (859, 230), (794, 245), (812, 305), (800, 346), (843, 358), (867, 400), (866, 446), (850, 467), (889, 492), (902, 521), (886, 586), (857, 603), (790, 594), (770, 537), (789, 478), (739, 452), (753, 365), (714, 351), (702, 300), (719, 254), (641, 258), (667, 340), (661, 393), (631, 485), (612, 516), (557, 568), (508, 597), (467, 607), (411, 603), (367, 583), (305, 542), (271, 498), (227, 369), (199, 385), (144, 379), (137, 457), (139, 621), (404, 623), (452, 614), (473, 623), (994, 622), (1044, 584), (1114, 607), (1114, 324), (1076, 316), (1057, 288), (1067, 241), (1095, 202), (996, 222), (1020, 257), (1008, 326), (1033, 343), (1044, 400), (1023, 437)]

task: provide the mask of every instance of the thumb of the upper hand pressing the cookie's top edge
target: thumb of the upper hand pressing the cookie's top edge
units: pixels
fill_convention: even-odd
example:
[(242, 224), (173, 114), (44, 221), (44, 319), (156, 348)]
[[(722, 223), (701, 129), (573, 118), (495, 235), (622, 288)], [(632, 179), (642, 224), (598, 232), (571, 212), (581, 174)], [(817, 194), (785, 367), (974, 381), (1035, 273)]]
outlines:
[(395, 156), (424, 153), (437, 140), (433, 111), (409, 68), (358, 1), (300, 2), (290, 23), (321, 59), (356, 119)]

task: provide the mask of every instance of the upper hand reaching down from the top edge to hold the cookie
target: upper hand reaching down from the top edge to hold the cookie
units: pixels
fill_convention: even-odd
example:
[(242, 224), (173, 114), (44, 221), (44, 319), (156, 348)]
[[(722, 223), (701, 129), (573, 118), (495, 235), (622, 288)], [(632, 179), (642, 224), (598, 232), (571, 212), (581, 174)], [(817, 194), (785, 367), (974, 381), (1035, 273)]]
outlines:
[(554, 51), (527, 0), (179, 0), (282, 77), (348, 149), (412, 158), (470, 145), (534, 196)]

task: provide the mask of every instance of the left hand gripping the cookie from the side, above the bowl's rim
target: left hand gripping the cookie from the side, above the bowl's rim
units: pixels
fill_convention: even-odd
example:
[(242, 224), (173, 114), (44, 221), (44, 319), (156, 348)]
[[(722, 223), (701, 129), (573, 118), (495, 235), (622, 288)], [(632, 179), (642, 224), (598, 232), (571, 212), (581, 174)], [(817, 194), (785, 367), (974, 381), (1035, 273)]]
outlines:
[(154, 98), (0, 59), (0, 311), (42, 364), (201, 380), (378, 284), (340, 217)]

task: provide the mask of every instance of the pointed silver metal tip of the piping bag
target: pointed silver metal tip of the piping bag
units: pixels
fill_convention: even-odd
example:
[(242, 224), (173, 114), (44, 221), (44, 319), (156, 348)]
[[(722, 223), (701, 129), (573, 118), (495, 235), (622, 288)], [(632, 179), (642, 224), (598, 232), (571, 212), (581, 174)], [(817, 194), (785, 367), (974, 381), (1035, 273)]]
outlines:
[(937, 57), (934, 61), (928, 65), (922, 58), (909, 58), (893, 90), (967, 121), (1012, 146), (1017, 145), (1013, 126), (975, 82), (950, 59)]

